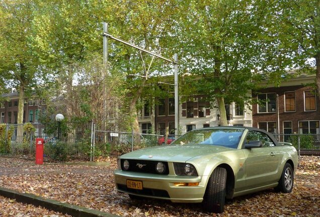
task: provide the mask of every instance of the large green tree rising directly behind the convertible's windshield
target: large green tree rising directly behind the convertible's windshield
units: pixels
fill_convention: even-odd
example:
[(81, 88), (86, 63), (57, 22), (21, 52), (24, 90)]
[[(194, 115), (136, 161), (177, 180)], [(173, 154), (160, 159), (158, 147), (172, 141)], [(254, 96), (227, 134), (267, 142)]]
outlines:
[[(255, 14), (252, 1), (186, 1), (184, 22), (178, 28), (185, 72), (195, 79), (185, 90), (196, 90), (208, 101), (216, 102), (220, 124), (227, 125), (225, 104), (250, 102), (250, 90), (257, 73), (261, 16)], [(187, 45), (187, 46), (185, 46)], [(189, 92), (194, 94), (194, 92)], [(189, 95), (185, 92), (184, 95)]]

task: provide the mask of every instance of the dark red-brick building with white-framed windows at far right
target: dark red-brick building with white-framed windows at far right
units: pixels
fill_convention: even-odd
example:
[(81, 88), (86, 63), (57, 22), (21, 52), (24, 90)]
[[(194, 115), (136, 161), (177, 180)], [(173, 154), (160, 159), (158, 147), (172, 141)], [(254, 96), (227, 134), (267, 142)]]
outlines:
[(253, 94), (264, 101), (252, 106), (253, 127), (274, 134), (319, 134), (320, 104), (310, 85), (314, 79), (314, 75), (301, 75)]

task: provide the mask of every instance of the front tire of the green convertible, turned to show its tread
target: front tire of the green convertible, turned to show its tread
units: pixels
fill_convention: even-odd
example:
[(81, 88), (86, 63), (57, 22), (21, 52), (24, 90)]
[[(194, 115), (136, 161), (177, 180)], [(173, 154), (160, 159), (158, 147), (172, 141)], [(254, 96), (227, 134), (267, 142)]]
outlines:
[(226, 194), (227, 172), (217, 167), (211, 174), (203, 197), (204, 209), (209, 212), (222, 213)]

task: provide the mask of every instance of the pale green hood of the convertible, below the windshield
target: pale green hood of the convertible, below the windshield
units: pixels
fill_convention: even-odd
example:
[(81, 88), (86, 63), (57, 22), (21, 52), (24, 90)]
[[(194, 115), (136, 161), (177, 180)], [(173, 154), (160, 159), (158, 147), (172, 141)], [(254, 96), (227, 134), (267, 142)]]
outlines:
[(121, 158), (186, 162), (187, 160), (198, 155), (213, 154), (230, 150), (230, 148), (225, 148), (223, 146), (203, 144), (165, 145), (140, 149), (124, 154), (121, 156)]

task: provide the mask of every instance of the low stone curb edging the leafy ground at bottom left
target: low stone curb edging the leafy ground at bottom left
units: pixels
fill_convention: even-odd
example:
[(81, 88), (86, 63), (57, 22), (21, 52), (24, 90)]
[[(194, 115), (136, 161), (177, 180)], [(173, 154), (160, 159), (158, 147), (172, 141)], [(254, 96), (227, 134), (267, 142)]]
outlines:
[(95, 209), (89, 209), (83, 206), (73, 205), (70, 203), (60, 202), (53, 199), (46, 199), (41, 196), (36, 196), (30, 193), (20, 193), (15, 190), (0, 187), (0, 195), (16, 199), (18, 202), (33, 204), (35, 206), (42, 206), (47, 209), (69, 214), (77, 217), (116, 217), (120, 215), (111, 214)]

